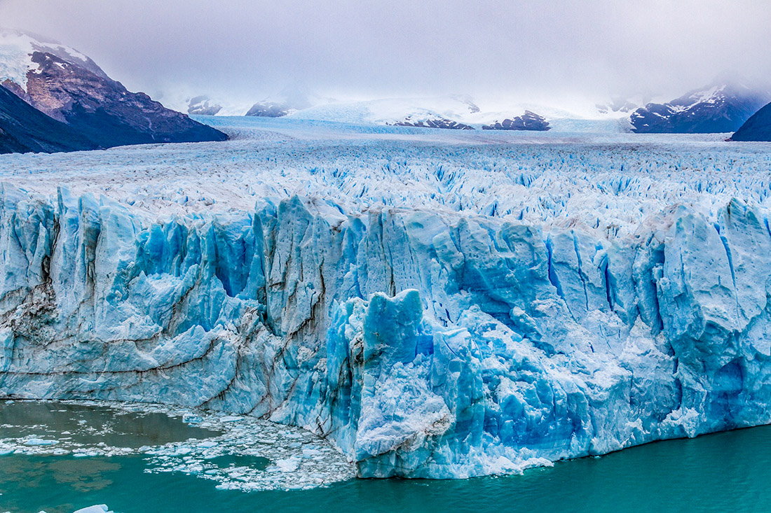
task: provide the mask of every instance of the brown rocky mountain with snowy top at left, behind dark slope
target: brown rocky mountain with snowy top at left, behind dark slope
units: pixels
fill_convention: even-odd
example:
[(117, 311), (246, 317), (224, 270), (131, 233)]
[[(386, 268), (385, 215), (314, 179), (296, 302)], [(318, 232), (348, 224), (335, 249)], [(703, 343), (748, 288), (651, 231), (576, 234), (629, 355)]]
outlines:
[(107, 148), (227, 136), (110, 79), (86, 55), (22, 32), (0, 32), (0, 84)]

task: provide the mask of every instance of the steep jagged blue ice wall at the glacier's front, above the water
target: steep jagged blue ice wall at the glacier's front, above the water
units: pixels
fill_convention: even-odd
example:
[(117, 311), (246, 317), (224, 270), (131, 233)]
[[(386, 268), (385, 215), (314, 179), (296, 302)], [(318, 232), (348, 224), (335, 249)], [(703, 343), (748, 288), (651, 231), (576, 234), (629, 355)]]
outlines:
[(151, 219), (0, 192), (0, 395), (308, 428), (365, 477), (520, 471), (771, 421), (771, 230), (633, 236), (297, 196)]

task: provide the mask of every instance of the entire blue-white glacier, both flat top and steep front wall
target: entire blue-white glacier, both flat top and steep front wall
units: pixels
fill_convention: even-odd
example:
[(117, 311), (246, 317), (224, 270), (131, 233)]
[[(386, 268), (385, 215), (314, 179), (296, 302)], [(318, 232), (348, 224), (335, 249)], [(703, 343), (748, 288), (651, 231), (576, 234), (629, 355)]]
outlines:
[(307, 428), (361, 476), (771, 422), (771, 145), (212, 118), (0, 156), (0, 394)]

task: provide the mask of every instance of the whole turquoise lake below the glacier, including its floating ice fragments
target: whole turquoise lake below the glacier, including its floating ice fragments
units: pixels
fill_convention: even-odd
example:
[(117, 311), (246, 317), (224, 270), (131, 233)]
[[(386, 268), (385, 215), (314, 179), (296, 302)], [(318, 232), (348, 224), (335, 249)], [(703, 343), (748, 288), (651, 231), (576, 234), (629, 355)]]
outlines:
[(324, 441), (153, 405), (0, 402), (0, 511), (771, 511), (771, 426), (662, 441), (524, 475), (356, 479)]

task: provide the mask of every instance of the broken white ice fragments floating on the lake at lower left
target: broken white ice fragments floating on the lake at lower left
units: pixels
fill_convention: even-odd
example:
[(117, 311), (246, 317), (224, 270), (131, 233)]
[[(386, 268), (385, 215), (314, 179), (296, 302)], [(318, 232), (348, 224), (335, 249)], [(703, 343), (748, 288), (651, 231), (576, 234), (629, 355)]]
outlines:
[[(190, 408), (156, 404), (106, 401), (56, 401), (50, 404), (108, 407), (115, 415), (162, 413), (187, 421), (192, 420), (196, 428), (221, 434), (131, 448), (104, 444), (101, 437), (109, 433), (109, 428), (99, 426), (99, 429), (96, 429), (93, 426), (86, 427), (84, 423), (79, 424), (82, 428), (73, 434), (87, 434), (89, 441), (83, 441), (82, 437), (73, 440), (70, 436), (58, 440), (29, 436), (0, 438), (0, 455), (15, 452), (72, 454), (86, 458), (143, 454), (148, 463), (146, 471), (194, 474), (216, 481), (219, 488), (244, 491), (313, 488), (355, 476), (352, 464), (327, 441), (303, 429), (274, 424), (255, 417), (218, 411), (192, 411)], [(4, 424), (3, 427), (14, 426)], [(46, 436), (49, 437), (62, 435), (57, 433), (55, 428), (42, 425), (35, 428), (48, 429)], [(53, 445), (56, 445), (56, 448), (52, 448)]]

